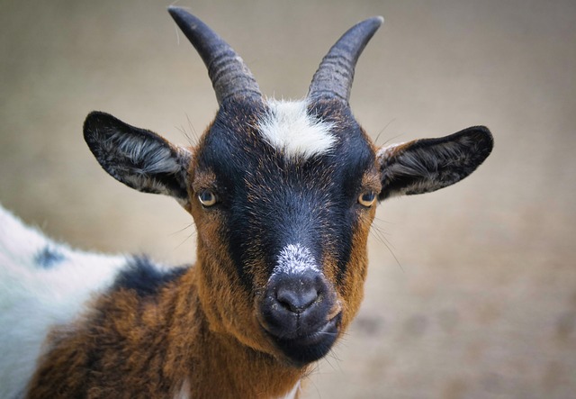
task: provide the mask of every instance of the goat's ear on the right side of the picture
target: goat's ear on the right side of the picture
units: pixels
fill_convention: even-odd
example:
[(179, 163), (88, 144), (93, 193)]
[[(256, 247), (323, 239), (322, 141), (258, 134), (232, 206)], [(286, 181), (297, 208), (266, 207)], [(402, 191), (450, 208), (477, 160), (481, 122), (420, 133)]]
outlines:
[(383, 147), (376, 154), (383, 184), (379, 199), (430, 193), (451, 186), (478, 168), (492, 147), (491, 132), (484, 126), (439, 139)]

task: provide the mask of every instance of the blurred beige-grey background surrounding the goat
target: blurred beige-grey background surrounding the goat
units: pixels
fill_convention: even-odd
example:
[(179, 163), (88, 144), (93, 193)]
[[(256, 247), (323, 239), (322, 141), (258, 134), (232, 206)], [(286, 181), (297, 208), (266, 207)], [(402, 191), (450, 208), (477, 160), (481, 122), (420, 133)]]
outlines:
[[(167, 1), (0, 2), (0, 203), (82, 249), (195, 258), (191, 218), (98, 166), (92, 110), (180, 144), (217, 104)], [(353, 23), (386, 22), (351, 104), (378, 144), (475, 124), (464, 182), (381, 204), (365, 303), (304, 398), (576, 397), (576, 3), (182, 0), (262, 91), (300, 98)], [(0, 338), (1, 339), (1, 338)]]

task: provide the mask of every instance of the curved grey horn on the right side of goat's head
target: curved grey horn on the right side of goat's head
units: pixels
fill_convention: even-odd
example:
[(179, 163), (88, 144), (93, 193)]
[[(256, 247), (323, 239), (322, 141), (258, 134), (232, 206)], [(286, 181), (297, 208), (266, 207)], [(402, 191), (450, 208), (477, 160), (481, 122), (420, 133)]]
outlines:
[(350, 98), (350, 88), (354, 80), (354, 68), (362, 50), (384, 22), (383, 17), (375, 16), (356, 23), (332, 46), (320, 67), (312, 77), (308, 97), (338, 97), (344, 101)]

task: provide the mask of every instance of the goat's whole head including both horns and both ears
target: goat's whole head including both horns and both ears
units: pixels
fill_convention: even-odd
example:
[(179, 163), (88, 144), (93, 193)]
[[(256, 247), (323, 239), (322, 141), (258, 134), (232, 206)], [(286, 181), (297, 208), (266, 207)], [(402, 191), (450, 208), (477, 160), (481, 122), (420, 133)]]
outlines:
[(170, 13), (209, 67), (220, 109), (194, 149), (106, 113), (85, 140), (112, 177), (174, 196), (198, 230), (196, 266), (211, 329), (294, 366), (328, 353), (356, 314), (376, 200), (434, 191), (490, 154), (474, 127), (443, 139), (376, 149), (348, 105), (360, 52), (381, 19), (332, 47), (299, 102), (268, 101), (214, 32)]

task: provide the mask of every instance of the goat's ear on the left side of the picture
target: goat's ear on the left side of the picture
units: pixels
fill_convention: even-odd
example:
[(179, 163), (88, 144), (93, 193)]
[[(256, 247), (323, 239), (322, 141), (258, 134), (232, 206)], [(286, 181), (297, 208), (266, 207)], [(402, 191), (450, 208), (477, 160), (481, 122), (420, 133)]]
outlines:
[(192, 153), (156, 133), (121, 122), (108, 113), (89, 113), (84, 139), (102, 168), (126, 186), (164, 194), (186, 208)]

